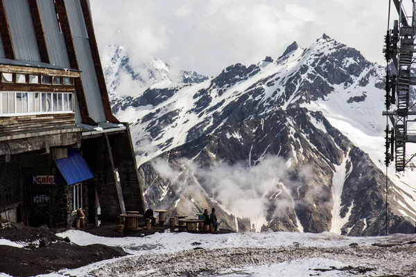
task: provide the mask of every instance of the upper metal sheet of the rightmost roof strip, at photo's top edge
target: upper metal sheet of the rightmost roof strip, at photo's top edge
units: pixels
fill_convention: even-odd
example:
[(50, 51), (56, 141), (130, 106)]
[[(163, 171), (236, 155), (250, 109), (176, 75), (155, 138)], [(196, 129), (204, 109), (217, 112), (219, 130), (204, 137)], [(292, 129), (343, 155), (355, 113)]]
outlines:
[(80, 0), (64, 0), (73, 37), (88, 38)]

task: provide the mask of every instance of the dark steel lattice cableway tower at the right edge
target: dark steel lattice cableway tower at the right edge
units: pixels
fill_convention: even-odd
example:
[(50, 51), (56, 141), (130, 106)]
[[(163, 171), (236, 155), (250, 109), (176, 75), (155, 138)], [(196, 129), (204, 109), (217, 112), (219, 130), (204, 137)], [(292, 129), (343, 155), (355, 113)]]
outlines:
[[(385, 59), (389, 66), (385, 76), (385, 109), (392, 127), (385, 128), (385, 164), (395, 161), (396, 171), (404, 171), (410, 159), (406, 158), (406, 143), (416, 143), (416, 107), (410, 94), (416, 88), (415, 4), (416, 0), (393, 0), (399, 20), (385, 35)], [(408, 5), (408, 6), (407, 6)], [(411, 10), (409, 9), (411, 5)], [(390, 16), (390, 15), (389, 15)], [(390, 27), (390, 26), (389, 26)], [(413, 69), (412, 69), (413, 67)], [(413, 93), (412, 93), (413, 94)], [(392, 111), (392, 104), (395, 105)]]

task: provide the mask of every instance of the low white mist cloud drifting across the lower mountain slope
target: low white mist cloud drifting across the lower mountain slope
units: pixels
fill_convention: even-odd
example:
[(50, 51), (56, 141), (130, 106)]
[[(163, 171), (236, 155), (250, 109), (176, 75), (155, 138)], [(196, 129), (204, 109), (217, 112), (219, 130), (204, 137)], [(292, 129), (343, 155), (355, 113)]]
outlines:
[[(223, 206), (225, 211), (236, 217), (249, 217), (257, 229), (266, 224), (266, 210), (270, 201), (275, 201), (276, 216), (284, 213), (286, 208), (293, 208), (289, 196), (292, 184), (288, 181), (286, 161), (280, 157), (269, 156), (257, 166), (247, 163), (214, 163), (209, 168), (198, 168), (195, 163), (182, 159), (180, 161), (188, 174), (193, 174), (207, 196)], [(180, 178), (186, 170), (177, 170), (162, 159), (155, 159), (153, 167), (160, 177), (180, 186), (195, 186), (195, 179)], [(280, 195), (280, 197), (279, 197)]]

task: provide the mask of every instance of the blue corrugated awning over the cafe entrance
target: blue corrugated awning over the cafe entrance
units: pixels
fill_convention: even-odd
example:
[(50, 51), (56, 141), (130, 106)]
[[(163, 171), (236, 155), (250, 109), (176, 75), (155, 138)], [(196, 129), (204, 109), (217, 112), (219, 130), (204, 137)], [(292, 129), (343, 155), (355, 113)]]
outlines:
[(94, 177), (87, 162), (76, 148), (68, 149), (68, 157), (55, 159), (55, 163), (69, 185), (77, 184)]

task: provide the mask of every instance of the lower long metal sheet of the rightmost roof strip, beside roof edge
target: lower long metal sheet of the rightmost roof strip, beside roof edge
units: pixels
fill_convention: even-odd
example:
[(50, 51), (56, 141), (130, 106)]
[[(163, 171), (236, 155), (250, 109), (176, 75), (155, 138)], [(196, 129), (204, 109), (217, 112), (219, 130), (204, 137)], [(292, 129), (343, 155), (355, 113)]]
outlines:
[(101, 100), (100, 88), (98, 87), (98, 80), (88, 39), (83, 37), (73, 37), (73, 44), (75, 45), (80, 71), (82, 71), (81, 78), (83, 80), (89, 116), (96, 123), (104, 122), (106, 121), (106, 118), (103, 100)]

